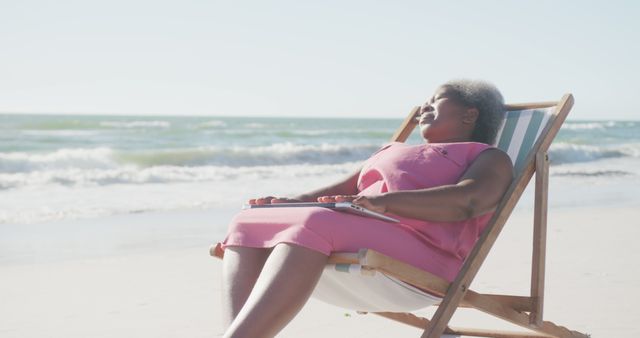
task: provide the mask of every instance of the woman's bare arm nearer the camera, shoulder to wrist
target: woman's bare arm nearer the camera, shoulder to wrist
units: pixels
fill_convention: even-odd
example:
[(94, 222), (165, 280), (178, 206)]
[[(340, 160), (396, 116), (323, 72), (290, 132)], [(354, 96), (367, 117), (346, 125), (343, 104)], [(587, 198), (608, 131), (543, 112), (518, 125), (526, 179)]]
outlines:
[[(398, 216), (426, 221), (461, 221), (494, 210), (512, 179), (509, 156), (500, 150), (489, 149), (478, 155), (456, 184), (385, 193), (373, 197), (371, 202)], [(378, 198), (379, 201), (375, 201)]]

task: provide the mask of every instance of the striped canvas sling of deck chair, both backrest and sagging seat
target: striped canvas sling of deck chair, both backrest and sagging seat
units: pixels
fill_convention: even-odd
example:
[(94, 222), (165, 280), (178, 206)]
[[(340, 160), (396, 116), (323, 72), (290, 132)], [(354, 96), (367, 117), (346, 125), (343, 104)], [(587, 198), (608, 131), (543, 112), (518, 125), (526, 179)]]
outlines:
[[(509, 154), (516, 174), (524, 167), (527, 155), (551, 121), (554, 108), (506, 113), (494, 145)], [(357, 264), (327, 265), (313, 297), (343, 308), (368, 312), (414, 311), (441, 301), (396, 278), (363, 269)]]

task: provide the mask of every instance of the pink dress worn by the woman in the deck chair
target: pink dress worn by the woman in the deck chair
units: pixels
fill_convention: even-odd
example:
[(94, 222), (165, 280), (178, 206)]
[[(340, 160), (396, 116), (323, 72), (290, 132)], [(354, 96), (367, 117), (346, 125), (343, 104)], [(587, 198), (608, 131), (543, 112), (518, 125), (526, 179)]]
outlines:
[[(364, 162), (358, 195), (455, 184), (488, 148), (477, 142), (388, 143)], [(453, 281), (492, 214), (431, 222), (388, 213), (401, 220), (389, 223), (321, 207), (246, 209), (232, 219), (222, 248), (292, 243), (325, 255), (368, 248)]]

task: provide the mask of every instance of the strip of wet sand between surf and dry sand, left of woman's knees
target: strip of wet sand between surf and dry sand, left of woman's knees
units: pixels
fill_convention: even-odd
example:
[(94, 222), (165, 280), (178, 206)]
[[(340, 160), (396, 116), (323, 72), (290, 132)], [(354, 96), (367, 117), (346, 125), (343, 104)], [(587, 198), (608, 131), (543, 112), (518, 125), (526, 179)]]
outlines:
[(205, 246), (211, 238), (224, 235), (217, 224), (233, 214), (231, 208), (218, 208), (0, 224), (0, 266)]

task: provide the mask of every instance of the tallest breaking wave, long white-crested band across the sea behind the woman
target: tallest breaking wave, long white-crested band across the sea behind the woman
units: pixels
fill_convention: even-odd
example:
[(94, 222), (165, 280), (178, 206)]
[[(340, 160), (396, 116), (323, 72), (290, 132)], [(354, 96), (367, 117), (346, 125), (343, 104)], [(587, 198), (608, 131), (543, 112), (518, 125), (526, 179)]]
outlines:
[[(182, 149), (121, 150), (109, 147), (65, 148), (48, 153), (0, 152), (0, 173), (18, 174), (76, 170), (141, 170), (155, 167), (265, 167), (326, 165), (362, 161), (379, 144), (295, 144), (263, 146), (207, 146)], [(554, 143), (549, 151), (552, 165), (592, 162), (602, 159), (640, 158), (640, 143), (592, 146)], [(127, 169), (129, 170), (129, 169)], [(123, 172), (126, 172), (123, 171)], [(177, 169), (174, 169), (177, 172)], [(96, 173), (96, 175), (102, 175)]]

